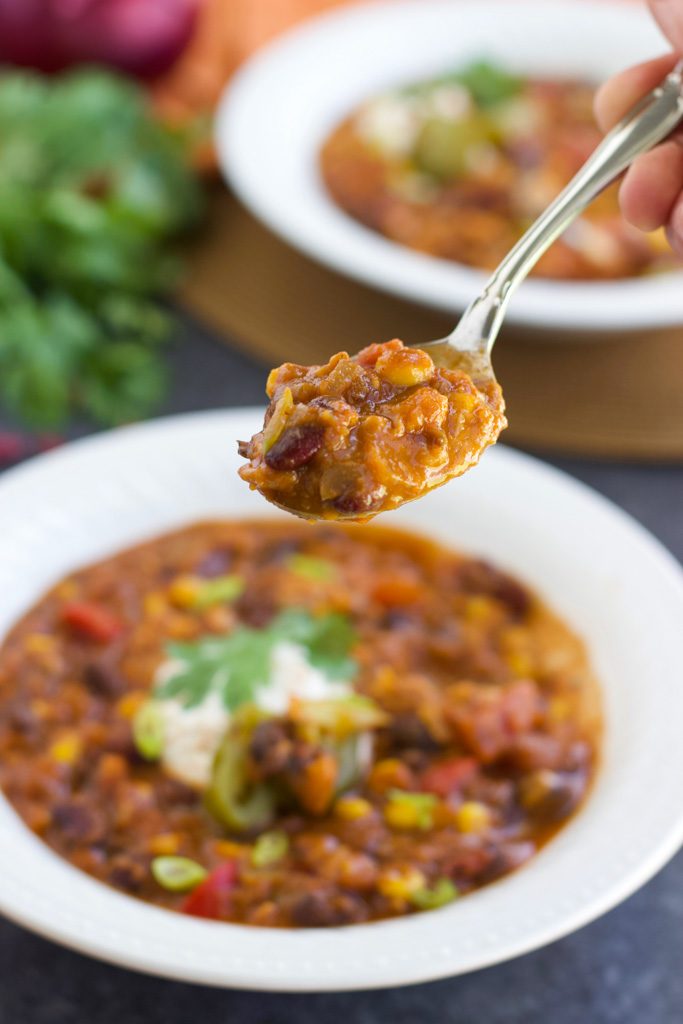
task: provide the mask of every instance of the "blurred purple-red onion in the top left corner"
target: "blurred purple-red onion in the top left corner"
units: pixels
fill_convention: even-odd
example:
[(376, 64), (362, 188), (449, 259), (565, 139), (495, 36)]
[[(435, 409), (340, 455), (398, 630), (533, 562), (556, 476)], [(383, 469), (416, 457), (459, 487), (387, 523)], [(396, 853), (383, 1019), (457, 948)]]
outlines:
[(161, 75), (187, 44), (203, 0), (0, 0), (0, 61), (54, 72), (104, 63)]

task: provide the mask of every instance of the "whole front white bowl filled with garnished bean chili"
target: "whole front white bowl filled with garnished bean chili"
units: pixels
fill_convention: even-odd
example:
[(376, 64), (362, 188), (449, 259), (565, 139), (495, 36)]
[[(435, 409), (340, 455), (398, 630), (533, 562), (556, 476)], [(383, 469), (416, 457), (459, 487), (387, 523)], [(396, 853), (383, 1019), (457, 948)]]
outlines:
[(528, 951), (641, 885), (683, 828), (680, 569), (505, 449), (397, 530), (256, 519), (226, 438), (258, 415), (0, 481), (3, 913), (176, 979), (340, 989)]

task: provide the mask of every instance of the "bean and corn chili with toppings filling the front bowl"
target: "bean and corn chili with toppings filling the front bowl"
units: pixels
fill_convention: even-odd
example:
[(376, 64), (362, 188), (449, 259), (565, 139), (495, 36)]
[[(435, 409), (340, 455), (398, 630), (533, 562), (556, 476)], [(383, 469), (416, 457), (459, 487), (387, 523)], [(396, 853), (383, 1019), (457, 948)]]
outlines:
[(274, 928), (433, 909), (585, 798), (582, 645), (417, 535), (207, 522), (70, 574), (0, 649), (0, 784), (75, 866)]

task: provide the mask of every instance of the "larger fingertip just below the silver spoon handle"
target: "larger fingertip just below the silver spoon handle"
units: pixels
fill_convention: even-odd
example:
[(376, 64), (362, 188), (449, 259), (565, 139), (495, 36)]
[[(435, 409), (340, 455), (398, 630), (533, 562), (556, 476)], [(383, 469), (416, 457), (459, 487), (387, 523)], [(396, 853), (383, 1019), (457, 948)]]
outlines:
[(632, 164), (620, 189), (622, 211), (641, 231), (666, 224), (683, 191), (683, 148), (663, 142)]

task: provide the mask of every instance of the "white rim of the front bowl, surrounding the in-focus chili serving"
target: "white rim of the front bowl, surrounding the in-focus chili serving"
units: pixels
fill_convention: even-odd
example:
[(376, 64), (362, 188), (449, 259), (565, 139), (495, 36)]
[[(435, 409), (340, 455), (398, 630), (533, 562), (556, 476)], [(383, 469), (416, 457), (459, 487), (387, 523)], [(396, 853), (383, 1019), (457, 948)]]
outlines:
[[(207, 516), (262, 516), (234, 439), (260, 412), (125, 428), (41, 456), (0, 481), (0, 633), (78, 565)], [(401, 985), (537, 948), (642, 885), (683, 839), (683, 580), (640, 526), (503, 447), (392, 513), (526, 580), (586, 638), (606, 710), (587, 806), (517, 873), (451, 907), (329, 931), (193, 920), (99, 885), (52, 854), (0, 798), (0, 909), (127, 967), (213, 985), (315, 990)]]

